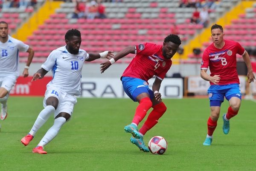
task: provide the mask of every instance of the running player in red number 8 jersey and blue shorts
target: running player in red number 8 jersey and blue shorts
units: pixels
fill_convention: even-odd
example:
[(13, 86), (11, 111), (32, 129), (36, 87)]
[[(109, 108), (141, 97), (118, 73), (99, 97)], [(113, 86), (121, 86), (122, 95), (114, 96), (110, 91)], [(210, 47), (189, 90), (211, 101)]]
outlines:
[[(242, 94), (236, 71), (236, 54), (242, 55), (246, 63), (248, 69), (247, 81), (251, 83), (255, 79), (247, 51), (238, 42), (224, 40), (222, 26), (213, 25), (211, 33), (213, 43), (205, 49), (201, 63), (201, 77), (210, 82), (208, 94), (211, 108), (211, 114), (207, 122), (208, 133), (203, 145), (211, 145), (212, 143), (212, 134), (217, 126), (224, 97), (230, 105), (227, 113), (222, 117), (224, 134), (229, 133), (230, 118), (238, 114)], [(207, 74), (208, 67), (211, 72), (210, 75)]]

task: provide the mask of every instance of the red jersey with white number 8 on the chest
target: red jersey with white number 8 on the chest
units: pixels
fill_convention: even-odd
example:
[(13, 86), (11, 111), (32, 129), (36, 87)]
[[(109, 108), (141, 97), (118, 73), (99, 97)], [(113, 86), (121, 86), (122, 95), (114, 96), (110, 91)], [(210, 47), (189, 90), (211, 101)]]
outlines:
[[(210, 76), (220, 75), (221, 78), (218, 85), (226, 85), (238, 83), (239, 78), (236, 71), (236, 54), (243, 55), (244, 48), (235, 41), (224, 40), (223, 48), (215, 48), (214, 44), (210, 44), (204, 51), (201, 69), (210, 69)], [(214, 85), (210, 82), (211, 85)]]

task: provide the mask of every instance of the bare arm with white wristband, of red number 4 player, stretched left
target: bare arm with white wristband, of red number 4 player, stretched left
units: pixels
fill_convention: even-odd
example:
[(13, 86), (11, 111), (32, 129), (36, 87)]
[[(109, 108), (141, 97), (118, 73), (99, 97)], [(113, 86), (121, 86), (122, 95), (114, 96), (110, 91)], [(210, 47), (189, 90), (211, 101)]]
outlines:
[(128, 54), (135, 54), (135, 46), (129, 46), (122, 51), (119, 51), (113, 58), (110, 60), (107, 60), (105, 63), (101, 63), (100, 71), (103, 73), (108, 67), (110, 67), (113, 63), (115, 63), (117, 60), (121, 59), (122, 57), (125, 57)]

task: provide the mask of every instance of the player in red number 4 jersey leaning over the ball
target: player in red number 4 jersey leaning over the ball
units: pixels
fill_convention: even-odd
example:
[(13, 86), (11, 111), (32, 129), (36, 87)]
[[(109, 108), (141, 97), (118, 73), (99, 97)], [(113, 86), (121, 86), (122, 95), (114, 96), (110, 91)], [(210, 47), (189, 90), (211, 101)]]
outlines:
[[(166, 105), (162, 102), (161, 94), (158, 92), (166, 72), (172, 65), (171, 58), (181, 44), (180, 37), (176, 34), (167, 36), (163, 45), (143, 43), (136, 46), (129, 46), (119, 51), (111, 60), (101, 65), (103, 73), (111, 64), (128, 54), (136, 54), (129, 66), (122, 74), (121, 80), (125, 93), (134, 102), (139, 102), (134, 118), (130, 125), (125, 126), (125, 131), (132, 134), (131, 142), (137, 145), (140, 150), (149, 152), (143, 142), (143, 136), (154, 125), (166, 111)], [(148, 87), (148, 80), (156, 76), (152, 90)], [(150, 108), (153, 110), (147, 120), (138, 131), (137, 126), (143, 120)]]

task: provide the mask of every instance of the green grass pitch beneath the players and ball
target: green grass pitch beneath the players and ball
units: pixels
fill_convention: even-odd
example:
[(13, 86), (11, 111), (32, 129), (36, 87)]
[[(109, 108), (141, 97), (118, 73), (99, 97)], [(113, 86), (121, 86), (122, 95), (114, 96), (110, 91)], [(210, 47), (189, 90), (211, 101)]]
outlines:
[[(167, 111), (144, 137), (168, 142), (164, 155), (144, 153), (125, 133), (137, 103), (129, 99), (78, 99), (72, 120), (45, 146), (47, 155), (34, 148), (53, 123), (50, 117), (34, 140), (24, 147), (20, 139), (31, 129), (43, 109), (42, 97), (10, 97), (8, 117), (1, 121), (0, 170), (89, 171), (251, 171), (256, 166), (256, 104), (243, 100), (239, 114), (230, 121), (230, 133), (222, 132), (219, 118), (211, 146), (203, 146), (209, 117), (208, 99), (164, 100)], [(228, 103), (222, 104), (221, 116)], [(139, 125), (139, 127), (142, 124)]]

